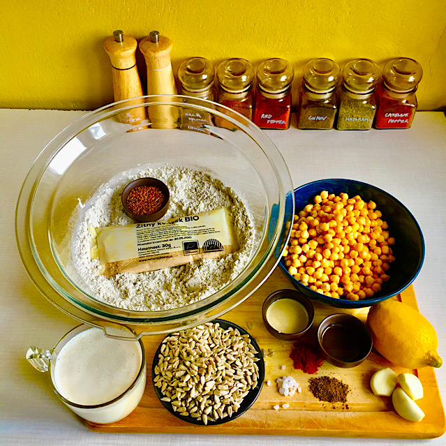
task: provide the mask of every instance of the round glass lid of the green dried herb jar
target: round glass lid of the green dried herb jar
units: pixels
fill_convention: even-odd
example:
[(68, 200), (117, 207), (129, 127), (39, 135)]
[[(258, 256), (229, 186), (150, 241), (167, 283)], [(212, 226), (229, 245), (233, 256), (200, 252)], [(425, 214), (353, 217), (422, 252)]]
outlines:
[(345, 65), (343, 84), (352, 93), (371, 93), (381, 77), (381, 68), (370, 59), (355, 59)]

